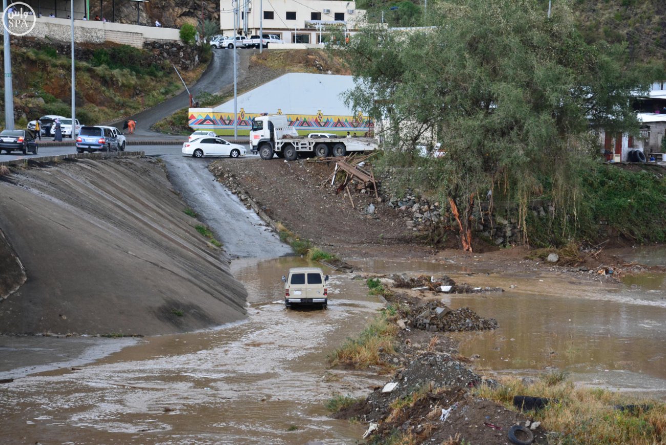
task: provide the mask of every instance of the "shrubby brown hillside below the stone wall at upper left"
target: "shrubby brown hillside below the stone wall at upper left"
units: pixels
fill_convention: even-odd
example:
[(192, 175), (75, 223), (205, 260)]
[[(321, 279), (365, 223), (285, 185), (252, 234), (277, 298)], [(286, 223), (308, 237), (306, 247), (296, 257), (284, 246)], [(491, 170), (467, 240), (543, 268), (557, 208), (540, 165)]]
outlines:
[[(69, 116), (69, 43), (23, 38), (12, 39), (11, 45), (12, 65), (21, 69), (13, 78), (16, 125), (25, 127), (41, 115)], [(84, 44), (75, 57), (77, 117), (83, 124), (117, 121), (180, 91), (171, 63), (186, 81), (198, 78), (204, 68), (201, 49), (181, 43), (150, 43), (143, 50), (111, 42)]]

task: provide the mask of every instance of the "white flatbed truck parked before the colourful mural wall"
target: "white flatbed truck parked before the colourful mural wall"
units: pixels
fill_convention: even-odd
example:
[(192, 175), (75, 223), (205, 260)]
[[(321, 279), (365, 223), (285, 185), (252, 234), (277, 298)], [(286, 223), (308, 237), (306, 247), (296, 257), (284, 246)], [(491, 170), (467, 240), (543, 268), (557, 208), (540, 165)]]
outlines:
[(278, 155), (287, 161), (295, 161), (299, 154), (314, 154), (320, 158), (346, 156), (347, 153), (376, 150), (378, 144), (372, 137), (303, 137), (289, 125), (285, 115), (266, 115), (252, 119), (250, 146), (252, 153), (258, 152), (261, 159)]

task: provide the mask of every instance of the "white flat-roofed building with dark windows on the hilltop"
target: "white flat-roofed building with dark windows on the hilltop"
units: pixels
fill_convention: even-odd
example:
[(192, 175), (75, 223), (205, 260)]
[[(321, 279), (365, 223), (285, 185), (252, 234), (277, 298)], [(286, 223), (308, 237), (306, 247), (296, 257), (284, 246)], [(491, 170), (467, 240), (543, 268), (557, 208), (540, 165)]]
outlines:
[(262, 21), (264, 34), (278, 35), (285, 43), (320, 43), (320, 36), (333, 29), (356, 30), (356, 23), (365, 15), (365, 11), (356, 10), (355, 1), (220, 0), (220, 29), (224, 35), (234, 34), (236, 5), (240, 33), (258, 35)]

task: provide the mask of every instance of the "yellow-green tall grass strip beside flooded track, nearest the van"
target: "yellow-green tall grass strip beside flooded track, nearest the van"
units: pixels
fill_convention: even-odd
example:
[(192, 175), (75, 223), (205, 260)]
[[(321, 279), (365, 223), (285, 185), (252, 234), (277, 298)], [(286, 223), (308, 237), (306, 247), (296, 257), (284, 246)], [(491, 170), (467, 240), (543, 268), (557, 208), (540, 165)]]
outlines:
[(344, 365), (354, 369), (368, 368), (372, 365), (388, 367), (380, 357), (380, 350), (393, 354), (397, 333), (398, 326), (392, 322), (386, 311), (383, 311), (358, 335), (358, 338), (348, 338), (340, 348), (336, 349), (329, 356), (328, 362), (331, 366)]

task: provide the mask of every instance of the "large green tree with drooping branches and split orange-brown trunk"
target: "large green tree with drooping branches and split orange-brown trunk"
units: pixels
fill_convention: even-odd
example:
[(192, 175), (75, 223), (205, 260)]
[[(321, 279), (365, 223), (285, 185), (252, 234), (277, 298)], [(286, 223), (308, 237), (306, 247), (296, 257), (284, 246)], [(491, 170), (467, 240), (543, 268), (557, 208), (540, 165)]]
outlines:
[[(528, 202), (545, 190), (558, 215), (575, 220), (592, 131), (635, 132), (631, 97), (649, 83), (623, 67), (625, 47), (585, 43), (561, 3), (551, 19), (536, 0), (437, 8), (431, 29), (368, 25), (345, 45), (356, 76), (348, 103), (385, 124), (394, 148), (386, 159), (420, 163), (410, 181), (448, 203), (466, 250), (474, 207), (486, 197), (518, 204), (525, 237)], [(445, 157), (413, 155), (417, 143), (437, 142)]]

